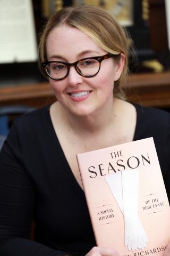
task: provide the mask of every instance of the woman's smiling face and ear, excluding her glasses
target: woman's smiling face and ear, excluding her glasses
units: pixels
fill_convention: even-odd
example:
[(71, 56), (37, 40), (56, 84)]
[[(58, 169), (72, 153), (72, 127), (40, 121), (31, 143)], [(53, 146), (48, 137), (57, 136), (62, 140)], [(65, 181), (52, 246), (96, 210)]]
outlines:
[[(66, 61), (69, 63), (82, 58), (107, 54), (93, 39), (77, 28), (60, 26), (54, 28), (47, 38), (48, 61)], [(89, 115), (95, 111), (113, 105), (114, 81), (123, 69), (124, 58), (120, 63), (113, 58), (101, 62), (99, 73), (94, 77), (82, 77), (70, 67), (69, 75), (61, 81), (49, 79), (57, 100), (75, 115)]]

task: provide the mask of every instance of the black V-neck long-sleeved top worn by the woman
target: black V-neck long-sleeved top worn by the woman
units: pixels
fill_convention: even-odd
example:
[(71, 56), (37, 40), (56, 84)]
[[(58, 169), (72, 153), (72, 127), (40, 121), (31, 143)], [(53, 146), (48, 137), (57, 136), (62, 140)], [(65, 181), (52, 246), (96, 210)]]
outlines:
[[(170, 197), (170, 114), (134, 106), (133, 140), (154, 137)], [(32, 219), (35, 242), (29, 240)], [(84, 255), (93, 246), (86, 199), (57, 140), (49, 107), (19, 117), (0, 153), (0, 255)]]

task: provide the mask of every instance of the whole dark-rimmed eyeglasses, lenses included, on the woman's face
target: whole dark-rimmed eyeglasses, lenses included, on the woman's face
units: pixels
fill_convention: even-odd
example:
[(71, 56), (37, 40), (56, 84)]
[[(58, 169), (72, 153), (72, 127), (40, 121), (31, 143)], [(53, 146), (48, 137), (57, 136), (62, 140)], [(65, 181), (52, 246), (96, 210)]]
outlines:
[(99, 73), (101, 61), (119, 55), (120, 53), (118, 55), (108, 53), (103, 56), (84, 58), (73, 63), (65, 61), (48, 61), (41, 63), (41, 65), (45, 68), (47, 75), (53, 80), (63, 80), (67, 77), (71, 66), (74, 66), (80, 76), (94, 77)]

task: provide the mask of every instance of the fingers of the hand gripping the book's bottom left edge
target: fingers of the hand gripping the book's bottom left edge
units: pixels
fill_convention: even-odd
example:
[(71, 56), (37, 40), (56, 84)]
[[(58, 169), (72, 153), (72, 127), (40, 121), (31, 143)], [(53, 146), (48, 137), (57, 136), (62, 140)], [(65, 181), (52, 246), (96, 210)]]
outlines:
[[(93, 247), (86, 256), (120, 256), (116, 250), (108, 247)], [(168, 255), (164, 255), (168, 256)]]

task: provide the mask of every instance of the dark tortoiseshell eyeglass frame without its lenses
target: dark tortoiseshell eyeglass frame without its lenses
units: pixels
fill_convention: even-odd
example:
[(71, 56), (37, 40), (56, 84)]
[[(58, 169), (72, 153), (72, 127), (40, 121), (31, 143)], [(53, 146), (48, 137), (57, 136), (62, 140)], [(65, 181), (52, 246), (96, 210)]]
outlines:
[[(41, 66), (42, 66), (43, 68), (45, 68), (46, 73), (47, 73), (47, 76), (50, 77), (50, 78), (53, 79), (53, 80), (56, 80), (56, 81), (60, 81), (60, 80), (63, 80), (64, 78), (66, 78), (66, 77), (69, 75), (69, 71), (70, 71), (70, 67), (71, 67), (71, 66), (74, 66), (75, 70), (77, 71), (77, 73), (78, 73), (80, 76), (83, 76), (83, 77), (87, 77), (87, 78), (88, 78), (88, 77), (94, 77), (94, 76), (96, 76), (96, 75), (99, 73), (100, 67), (101, 67), (101, 61), (106, 60), (106, 59), (108, 59), (108, 58), (115, 58), (115, 57), (118, 57), (118, 56), (120, 56), (120, 54), (121, 54), (121, 53), (118, 53), (118, 54), (107, 53), (107, 54), (105, 54), (105, 55), (103, 55), (103, 56), (96, 56), (96, 57), (90, 57), (90, 58), (83, 58), (83, 59), (77, 60), (77, 61), (75, 61), (75, 62), (73, 62), (73, 63), (69, 63), (69, 62), (66, 62), (66, 61), (47, 61), (47, 62), (41, 62)], [(79, 61), (88, 60), (88, 59), (94, 59), (94, 60), (97, 60), (97, 61), (99, 62), (99, 69), (98, 69), (97, 73), (94, 74), (94, 75), (83, 75), (83, 74), (81, 73), (80, 69), (79, 69), (78, 66), (77, 66), (78, 63), (79, 63)], [(64, 77), (62, 77), (62, 78), (54, 78), (54, 77), (50, 76), (50, 75), (48, 74), (48, 71), (47, 71), (47, 65), (50, 64), (50, 63), (61, 63), (61, 64), (64, 64), (65, 66), (67, 66), (67, 73), (66, 73), (66, 75), (65, 75)]]

